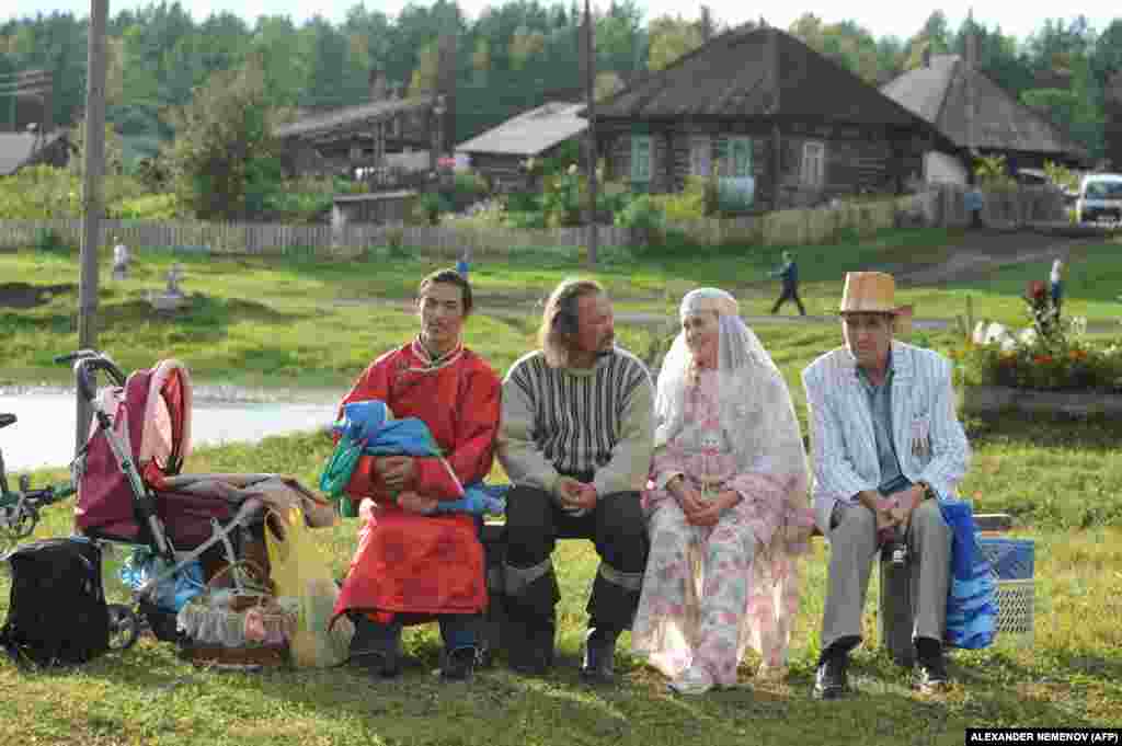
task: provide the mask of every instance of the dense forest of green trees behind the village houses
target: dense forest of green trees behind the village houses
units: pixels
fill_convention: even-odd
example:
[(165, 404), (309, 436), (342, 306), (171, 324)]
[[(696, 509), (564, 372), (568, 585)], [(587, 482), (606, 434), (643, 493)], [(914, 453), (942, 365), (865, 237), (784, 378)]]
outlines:
[[(396, 17), (353, 6), (341, 24), (315, 17), (295, 25), (263, 16), (247, 24), (231, 12), (195, 20), (180, 2), (154, 2), (109, 19), (108, 120), (131, 148), (155, 153), (174, 137), (169, 113), (211, 75), (252, 62), (264, 71), (267, 100), (296, 111), (361, 103), (371, 68), (412, 91), (433, 84), (436, 39), (458, 39), (457, 141), (559, 92), (579, 90), (580, 7), (512, 0), (469, 21), (454, 0), (406, 6)], [(39, 15), (0, 25), (0, 74), (54, 73), (53, 119), (73, 125), (85, 99), (85, 18)], [(788, 29), (863, 79), (881, 84), (921, 64), (923, 49), (965, 53), (972, 28), (950, 28), (941, 11), (908, 39), (875, 37), (844, 21), (804, 15)], [(1104, 153), (1104, 91), (1122, 68), (1122, 18), (1094, 29), (1083, 17), (1046, 19), (1028, 38), (974, 25), (978, 63), (1023, 102), (1040, 107), (1091, 153)], [(635, 0), (613, 0), (596, 17), (597, 89), (609, 93), (636, 73), (664, 67), (710, 34), (727, 29), (702, 8), (698, 18), (645, 19)], [(0, 98), (0, 121), (9, 101)]]

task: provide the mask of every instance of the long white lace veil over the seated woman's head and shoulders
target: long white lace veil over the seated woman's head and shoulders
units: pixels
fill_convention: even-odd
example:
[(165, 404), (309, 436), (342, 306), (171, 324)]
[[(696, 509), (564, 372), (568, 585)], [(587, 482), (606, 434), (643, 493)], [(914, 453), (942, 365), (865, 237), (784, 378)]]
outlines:
[[(782, 374), (755, 333), (739, 316), (732, 295), (715, 287), (691, 291), (679, 316), (718, 316), (717, 386), (720, 425), (736, 458), (736, 472), (766, 472), (806, 485), (807, 454), (799, 421)], [(697, 381), (693, 356), (679, 332), (659, 374), (655, 397), (655, 446), (670, 442), (684, 426), (686, 395)]]

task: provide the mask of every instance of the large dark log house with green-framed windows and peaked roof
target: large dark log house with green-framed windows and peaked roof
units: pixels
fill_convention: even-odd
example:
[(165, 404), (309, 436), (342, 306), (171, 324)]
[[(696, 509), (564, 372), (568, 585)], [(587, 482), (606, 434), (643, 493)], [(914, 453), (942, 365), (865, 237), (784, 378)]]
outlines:
[(754, 212), (898, 193), (940, 139), (875, 86), (767, 27), (727, 31), (598, 103), (596, 136), (609, 179), (674, 192), (716, 171)]

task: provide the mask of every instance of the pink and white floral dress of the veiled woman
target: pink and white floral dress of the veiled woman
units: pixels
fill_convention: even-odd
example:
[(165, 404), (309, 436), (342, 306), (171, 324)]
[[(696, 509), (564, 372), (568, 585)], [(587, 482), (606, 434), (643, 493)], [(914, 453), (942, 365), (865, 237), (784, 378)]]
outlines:
[[(651, 552), (632, 650), (671, 679), (697, 664), (729, 687), (748, 645), (763, 669), (787, 665), (799, 606), (797, 558), (807, 551), (813, 514), (804, 473), (735, 473), (729, 439), (736, 434), (723, 431), (716, 387), (716, 376), (703, 372), (687, 389), (687, 424), (654, 455), (642, 497)], [(735, 490), (741, 503), (715, 526), (692, 526), (665, 489), (675, 475), (709, 498)]]

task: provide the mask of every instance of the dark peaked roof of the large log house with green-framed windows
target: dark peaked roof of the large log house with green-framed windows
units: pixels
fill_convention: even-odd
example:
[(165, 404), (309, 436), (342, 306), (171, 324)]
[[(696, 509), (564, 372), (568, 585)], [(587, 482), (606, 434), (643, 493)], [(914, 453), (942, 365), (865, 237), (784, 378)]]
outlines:
[(776, 28), (732, 30), (597, 104), (597, 118), (809, 118), (927, 128), (875, 86)]

